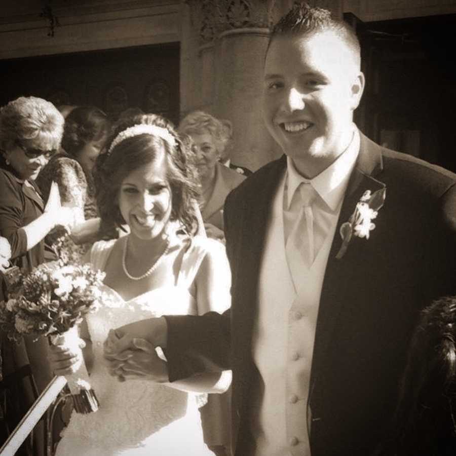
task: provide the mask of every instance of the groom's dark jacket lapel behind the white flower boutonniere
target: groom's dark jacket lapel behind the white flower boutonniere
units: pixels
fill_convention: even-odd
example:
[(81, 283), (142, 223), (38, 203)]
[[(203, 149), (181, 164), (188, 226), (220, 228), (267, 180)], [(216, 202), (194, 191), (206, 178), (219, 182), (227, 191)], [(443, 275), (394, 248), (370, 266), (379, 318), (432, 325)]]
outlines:
[[(356, 283), (355, 275), (360, 263), (358, 261), (359, 246), (353, 245), (353, 239), (351, 241), (352, 245), (349, 244), (348, 246), (347, 254), (341, 259), (336, 259), (336, 254), (342, 242), (339, 234), (340, 225), (349, 220), (355, 210), (356, 204), (360, 201), (366, 190), (370, 190), (373, 193), (377, 189), (385, 187), (384, 183), (374, 177), (379, 175), (383, 170), (381, 147), (362, 134), (360, 134), (360, 137), (359, 156), (340, 209), (328, 263), (326, 265), (317, 318), (311, 372), (311, 391), (313, 391), (313, 385), (321, 373), (322, 365), (325, 362), (326, 352), (337, 317), (345, 303), (345, 292), (350, 288), (351, 284)], [(367, 242), (374, 241), (370, 240)]]

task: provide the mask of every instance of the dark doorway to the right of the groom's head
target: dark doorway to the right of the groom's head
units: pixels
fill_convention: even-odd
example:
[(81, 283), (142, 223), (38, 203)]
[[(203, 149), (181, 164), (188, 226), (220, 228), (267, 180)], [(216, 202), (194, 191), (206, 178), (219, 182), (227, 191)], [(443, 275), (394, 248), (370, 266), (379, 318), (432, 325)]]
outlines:
[(356, 112), (378, 143), (456, 171), (456, 15), (362, 23), (366, 88)]

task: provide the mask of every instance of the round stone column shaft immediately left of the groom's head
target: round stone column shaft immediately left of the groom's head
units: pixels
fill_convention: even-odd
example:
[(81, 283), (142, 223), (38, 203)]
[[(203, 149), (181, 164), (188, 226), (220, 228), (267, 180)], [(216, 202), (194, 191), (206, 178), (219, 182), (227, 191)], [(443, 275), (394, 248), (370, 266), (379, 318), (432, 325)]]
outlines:
[(233, 163), (256, 170), (279, 156), (261, 113), (264, 55), (269, 40), (267, 2), (219, 2), (213, 112), (233, 124)]

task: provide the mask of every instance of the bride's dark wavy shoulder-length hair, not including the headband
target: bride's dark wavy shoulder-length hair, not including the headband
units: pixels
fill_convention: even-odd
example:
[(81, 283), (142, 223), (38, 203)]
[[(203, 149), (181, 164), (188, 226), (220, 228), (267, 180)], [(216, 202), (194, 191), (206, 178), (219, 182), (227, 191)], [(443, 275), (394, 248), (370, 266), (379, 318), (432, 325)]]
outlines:
[(174, 137), (172, 146), (163, 138), (143, 133), (124, 139), (115, 145), (110, 153), (98, 156), (95, 165), (95, 194), (101, 217), (101, 237), (116, 232), (116, 227), (125, 224), (119, 210), (119, 190), (122, 181), (131, 172), (153, 162), (161, 151), (165, 153), (167, 179), (172, 194), (172, 221), (179, 220), (187, 234), (197, 231), (198, 218), (196, 201), (199, 198), (199, 180), (195, 166), (195, 154), (182, 140), (173, 124), (156, 114), (136, 115), (121, 120), (106, 144), (109, 150), (112, 141), (129, 127), (135, 125), (156, 125), (166, 128)]

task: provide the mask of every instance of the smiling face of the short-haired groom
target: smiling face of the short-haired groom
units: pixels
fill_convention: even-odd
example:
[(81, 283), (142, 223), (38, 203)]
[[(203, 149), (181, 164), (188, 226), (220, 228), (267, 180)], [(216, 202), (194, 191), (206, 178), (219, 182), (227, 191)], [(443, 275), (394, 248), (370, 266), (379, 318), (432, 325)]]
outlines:
[(318, 161), (329, 166), (345, 150), (363, 87), (359, 60), (332, 31), (273, 39), (264, 63), (263, 118), (298, 170)]

